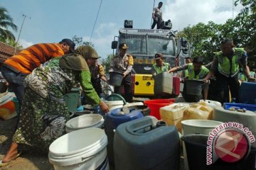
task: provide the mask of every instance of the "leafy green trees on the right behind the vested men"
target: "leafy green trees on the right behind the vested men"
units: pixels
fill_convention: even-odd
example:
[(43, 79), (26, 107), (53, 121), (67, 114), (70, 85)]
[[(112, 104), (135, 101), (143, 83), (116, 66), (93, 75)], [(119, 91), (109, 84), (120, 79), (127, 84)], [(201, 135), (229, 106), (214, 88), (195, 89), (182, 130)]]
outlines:
[(195, 26), (184, 28), (179, 33), (186, 37), (188, 42), (191, 42), (192, 57), (201, 56), (205, 58), (206, 62), (210, 62), (214, 52), (220, 50), (220, 41), (223, 38), (232, 38), (237, 47), (244, 47), (247, 51), (249, 67), (256, 68), (255, 1), (240, 0), (240, 2), (245, 8), (234, 20), (228, 19), (224, 24), (216, 24), (212, 21), (209, 21), (208, 24), (198, 23)]

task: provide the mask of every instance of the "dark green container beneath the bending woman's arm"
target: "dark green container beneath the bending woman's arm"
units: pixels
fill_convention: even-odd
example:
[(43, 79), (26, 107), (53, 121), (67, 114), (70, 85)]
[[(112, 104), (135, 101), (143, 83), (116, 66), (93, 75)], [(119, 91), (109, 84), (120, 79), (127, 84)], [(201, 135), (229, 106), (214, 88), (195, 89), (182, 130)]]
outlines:
[(68, 110), (71, 112), (75, 112), (78, 106), (79, 99), (79, 88), (73, 88), (68, 94), (64, 95), (65, 103), (68, 107)]

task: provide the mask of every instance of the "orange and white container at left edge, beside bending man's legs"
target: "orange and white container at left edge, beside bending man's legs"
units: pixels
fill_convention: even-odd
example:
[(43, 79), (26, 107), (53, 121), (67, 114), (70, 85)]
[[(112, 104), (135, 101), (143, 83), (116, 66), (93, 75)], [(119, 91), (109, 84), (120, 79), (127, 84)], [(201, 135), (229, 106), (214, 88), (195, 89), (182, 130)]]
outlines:
[(14, 103), (10, 93), (6, 93), (0, 98), (0, 118), (9, 120), (16, 117), (17, 113), (15, 110)]

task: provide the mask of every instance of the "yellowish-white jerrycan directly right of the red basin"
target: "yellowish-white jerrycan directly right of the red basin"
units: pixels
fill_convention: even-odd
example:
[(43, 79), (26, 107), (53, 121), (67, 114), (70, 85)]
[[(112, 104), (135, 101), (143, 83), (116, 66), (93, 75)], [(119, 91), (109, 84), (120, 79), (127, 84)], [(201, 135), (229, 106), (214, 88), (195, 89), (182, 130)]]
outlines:
[(169, 106), (160, 108), (160, 118), (164, 120), (167, 125), (175, 125), (179, 132), (181, 132), (181, 120), (183, 112), (189, 108), (189, 104), (174, 103)]

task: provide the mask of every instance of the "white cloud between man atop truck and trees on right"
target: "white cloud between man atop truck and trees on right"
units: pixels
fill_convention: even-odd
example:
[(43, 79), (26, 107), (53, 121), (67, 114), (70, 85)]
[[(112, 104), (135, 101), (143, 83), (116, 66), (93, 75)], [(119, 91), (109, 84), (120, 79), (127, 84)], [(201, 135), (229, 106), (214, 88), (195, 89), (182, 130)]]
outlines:
[[(233, 17), (232, 3), (232, 0), (167, 0), (163, 6), (164, 20), (171, 19), (174, 30), (182, 30), (199, 22), (225, 23)], [(234, 7), (234, 17), (241, 8), (241, 5)]]

